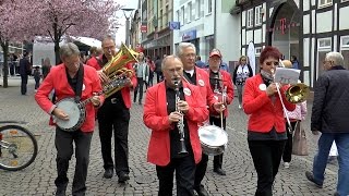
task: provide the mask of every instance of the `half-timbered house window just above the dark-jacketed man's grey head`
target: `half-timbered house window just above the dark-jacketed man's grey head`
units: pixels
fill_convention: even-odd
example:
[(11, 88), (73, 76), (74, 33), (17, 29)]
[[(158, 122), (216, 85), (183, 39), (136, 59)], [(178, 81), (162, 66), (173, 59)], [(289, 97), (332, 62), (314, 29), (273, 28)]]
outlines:
[(317, 40), (317, 77), (324, 73), (323, 62), (326, 58), (326, 53), (332, 50), (332, 39), (322, 38)]

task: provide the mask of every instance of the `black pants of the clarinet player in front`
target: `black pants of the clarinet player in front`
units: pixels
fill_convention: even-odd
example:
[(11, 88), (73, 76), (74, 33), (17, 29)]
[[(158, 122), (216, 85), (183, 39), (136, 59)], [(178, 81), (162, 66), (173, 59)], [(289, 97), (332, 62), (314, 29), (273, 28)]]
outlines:
[(177, 195), (194, 195), (195, 161), (192, 154), (183, 158), (171, 159), (166, 167), (156, 166), (159, 180), (158, 196), (172, 196), (173, 173), (176, 170)]

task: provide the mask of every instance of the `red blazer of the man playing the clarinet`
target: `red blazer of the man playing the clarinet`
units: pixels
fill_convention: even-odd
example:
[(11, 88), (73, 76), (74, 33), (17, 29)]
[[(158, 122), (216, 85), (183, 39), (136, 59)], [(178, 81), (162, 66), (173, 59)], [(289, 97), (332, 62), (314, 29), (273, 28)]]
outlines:
[[(185, 95), (190, 109), (184, 115), (190, 133), (190, 143), (194, 152), (195, 162), (200, 162), (202, 148), (197, 134), (197, 124), (208, 119), (208, 110), (198, 87), (183, 83), (191, 94)], [(170, 134), (172, 125), (168, 121), (166, 85), (161, 82), (146, 91), (143, 113), (144, 124), (152, 130), (148, 146), (147, 161), (157, 166), (167, 166), (170, 162)]]

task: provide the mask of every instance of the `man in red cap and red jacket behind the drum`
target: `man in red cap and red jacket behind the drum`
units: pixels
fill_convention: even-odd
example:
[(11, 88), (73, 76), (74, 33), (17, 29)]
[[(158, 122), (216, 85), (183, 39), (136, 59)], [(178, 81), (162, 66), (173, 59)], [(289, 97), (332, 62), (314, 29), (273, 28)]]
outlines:
[[(208, 59), (208, 74), (210, 88), (214, 91), (214, 97), (217, 101), (222, 102), (226, 108), (232, 103), (233, 87), (230, 73), (220, 69), (221, 53), (219, 50), (214, 49), (209, 53)], [(225, 100), (222, 100), (225, 99)], [(224, 110), (222, 115), (215, 109), (209, 110), (209, 123), (226, 130), (226, 120), (228, 117), (228, 110)], [(222, 120), (221, 120), (222, 118)], [(222, 122), (222, 124), (221, 124)], [(214, 157), (214, 172), (219, 175), (226, 175), (226, 171), (221, 169), (222, 154)]]

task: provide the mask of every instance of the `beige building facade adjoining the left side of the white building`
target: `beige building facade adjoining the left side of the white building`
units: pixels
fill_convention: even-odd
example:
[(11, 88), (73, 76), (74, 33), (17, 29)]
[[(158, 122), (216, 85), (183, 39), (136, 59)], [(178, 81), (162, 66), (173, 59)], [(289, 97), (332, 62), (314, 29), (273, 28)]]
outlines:
[[(146, 2), (147, 32), (142, 46), (146, 56), (152, 58), (172, 53), (172, 34), (168, 23), (172, 21), (172, 0), (148, 0)], [(145, 23), (145, 21), (143, 22)]]

